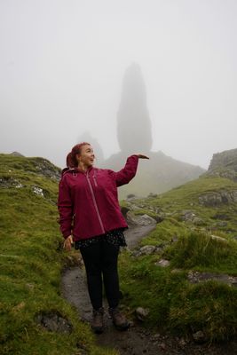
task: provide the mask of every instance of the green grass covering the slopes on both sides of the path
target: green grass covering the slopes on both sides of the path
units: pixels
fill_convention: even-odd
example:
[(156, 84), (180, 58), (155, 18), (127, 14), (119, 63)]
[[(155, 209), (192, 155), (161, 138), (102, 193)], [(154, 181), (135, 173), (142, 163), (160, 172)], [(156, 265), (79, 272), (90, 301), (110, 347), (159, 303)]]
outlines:
[[(115, 354), (95, 346), (91, 329), (60, 295), (67, 254), (61, 250), (57, 222), (58, 183), (39, 175), (36, 167), (43, 161), (0, 154), (0, 178), (5, 184), (0, 188), (1, 353), (79, 355), (79, 344), (92, 355)], [(42, 189), (43, 196), (34, 193), (34, 186)], [(162, 254), (134, 257), (126, 251), (120, 256), (122, 302), (131, 314), (138, 306), (150, 310), (145, 326), (183, 336), (203, 330), (209, 341), (236, 335), (237, 289), (213, 280), (199, 284), (187, 280), (190, 270), (237, 275), (236, 203), (207, 208), (198, 199), (201, 193), (236, 188), (236, 183), (225, 178), (201, 177), (155, 198), (132, 202), (138, 207), (137, 215), (165, 216), (140, 242), (163, 248)], [(128, 203), (122, 201), (122, 205)], [(183, 221), (184, 210), (200, 217), (201, 225)], [(224, 216), (224, 225), (217, 224), (219, 215)], [(211, 239), (211, 234), (226, 242)], [(157, 266), (160, 258), (169, 259), (170, 266)], [(41, 312), (68, 319), (72, 333), (45, 330), (36, 322)]]

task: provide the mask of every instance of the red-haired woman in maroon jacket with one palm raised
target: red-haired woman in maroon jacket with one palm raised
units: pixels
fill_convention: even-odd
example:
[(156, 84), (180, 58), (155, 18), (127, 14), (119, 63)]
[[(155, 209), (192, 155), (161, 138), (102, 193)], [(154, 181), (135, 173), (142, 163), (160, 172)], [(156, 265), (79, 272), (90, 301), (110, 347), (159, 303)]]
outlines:
[[(95, 155), (89, 143), (81, 143), (67, 154), (67, 168), (59, 183), (59, 225), (65, 238), (64, 246), (79, 248), (87, 274), (93, 318), (91, 327), (103, 331), (102, 285), (104, 282), (109, 314), (115, 327), (129, 327), (118, 309), (119, 278), (117, 260), (120, 246), (126, 246), (122, 231), (128, 227), (118, 202), (117, 187), (128, 184), (136, 175), (138, 159), (131, 155), (125, 167), (113, 170), (93, 167)], [(103, 277), (103, 282), (102, 282)]]

